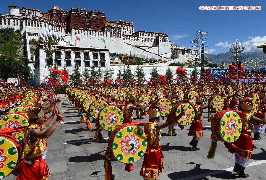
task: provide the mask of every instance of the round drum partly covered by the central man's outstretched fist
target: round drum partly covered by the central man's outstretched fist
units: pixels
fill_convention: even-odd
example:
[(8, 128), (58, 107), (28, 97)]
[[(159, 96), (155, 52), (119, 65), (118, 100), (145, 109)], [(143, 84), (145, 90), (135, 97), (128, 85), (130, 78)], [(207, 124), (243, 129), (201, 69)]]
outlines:
[[(194, 121), (195, 119), (195, 111), (194, 108), (187, 103), (182, 103), (182, 107), (185, 110), (185, 114), (177, 121), (178, 124), (181, 124), (183, 126), (189, 125)], [(175, 116), (179, 115), (181, 112), (181, 104), (178, 103), (174, 107), (174, 112), (176, 113)]]

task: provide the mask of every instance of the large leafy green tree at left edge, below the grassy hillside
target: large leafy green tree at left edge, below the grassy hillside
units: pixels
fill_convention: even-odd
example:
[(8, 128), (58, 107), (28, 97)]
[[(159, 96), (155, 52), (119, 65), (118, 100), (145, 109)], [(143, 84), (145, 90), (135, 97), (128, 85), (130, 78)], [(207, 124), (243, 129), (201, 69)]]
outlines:
[(25, 65), (25, 58), (16, 53), (4, 52), (0, 54), (0, 78), (7, 81), (8, 77), (17, 77), (17, 73), (24, 75), (25, 80), (30, 77), (30, 67)]

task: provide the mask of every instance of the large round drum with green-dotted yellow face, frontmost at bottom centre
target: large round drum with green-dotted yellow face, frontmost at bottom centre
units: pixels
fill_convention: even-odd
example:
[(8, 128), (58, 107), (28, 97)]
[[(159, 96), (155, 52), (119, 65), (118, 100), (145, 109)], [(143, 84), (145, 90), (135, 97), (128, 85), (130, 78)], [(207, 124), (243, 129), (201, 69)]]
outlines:
[(110, 135), (109, 148), (113, 157), (121, 163), (134, 163), (146, 152), (147, 137), (140, 127), (122, 124)]

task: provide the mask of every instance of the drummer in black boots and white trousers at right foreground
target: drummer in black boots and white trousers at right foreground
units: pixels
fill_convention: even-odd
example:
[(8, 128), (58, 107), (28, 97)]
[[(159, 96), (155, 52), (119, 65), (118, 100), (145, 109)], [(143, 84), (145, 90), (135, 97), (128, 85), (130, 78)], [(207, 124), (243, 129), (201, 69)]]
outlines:
[(238, 173), (240, 178), (249, 177), (248, 174), (245, 174), (245, 167), (249, 165), (249, 160), (254, 147), (251, 136), (253, 131), (252, 123), (266, 123), (266, 111), (264, 110), (263, 119), (260, 119), (250, 114), (252, 108), (253, 104), (249, 99), (246, 99), (241, 104), (242, 113), (238, 113), (242, 120), (241, 135), (235, 142), (224, 143), (230, 153), (235, 153), (235, 166), (233, 171)]

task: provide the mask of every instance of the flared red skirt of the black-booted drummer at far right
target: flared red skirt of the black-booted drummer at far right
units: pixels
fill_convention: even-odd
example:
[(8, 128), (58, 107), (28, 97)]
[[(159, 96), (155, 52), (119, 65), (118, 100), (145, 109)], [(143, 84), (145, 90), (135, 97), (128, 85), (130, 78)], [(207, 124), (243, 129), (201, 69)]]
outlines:
[(235, 142), (224, 143), (230, 153), (238, 153), (240, 157), (250, 159), (254, 148), (254, 142), (251, 134), (241, 135)]

